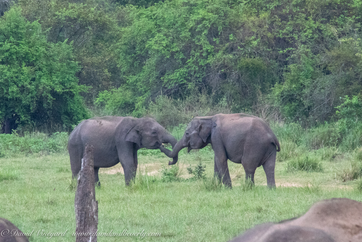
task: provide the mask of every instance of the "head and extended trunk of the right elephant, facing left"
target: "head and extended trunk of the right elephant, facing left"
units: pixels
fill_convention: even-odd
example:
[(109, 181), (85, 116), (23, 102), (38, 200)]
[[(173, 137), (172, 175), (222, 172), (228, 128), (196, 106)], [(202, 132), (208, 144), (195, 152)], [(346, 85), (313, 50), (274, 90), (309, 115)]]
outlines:
[[(160, 150), (168, 157), (174, 158), (177, 157), (178, 152), (180, 152), (181, 149), (186, 147), (188, 147), (188, 152), (190, 152), (191, 149), (202, 149), (210, 143), (208, 138), (211, 135), (212, 128), (215, 126), (216, 123), (211, 120), (211, 117), (195, 117), (186, 128), (184, 136), (182, 136), (182, 138), (176, 143), (175, 147), (172, 148), (172, 151), (164, 148), (163, 146), (160, 147)], [(176, 162), (173, 160), (168, 164), (174, 165)]]

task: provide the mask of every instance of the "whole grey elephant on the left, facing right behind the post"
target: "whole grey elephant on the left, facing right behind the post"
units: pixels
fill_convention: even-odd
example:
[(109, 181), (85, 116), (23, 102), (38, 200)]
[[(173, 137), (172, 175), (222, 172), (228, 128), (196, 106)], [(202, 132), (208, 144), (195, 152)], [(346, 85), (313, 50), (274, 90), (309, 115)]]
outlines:
[[(81, 169), (85, 145), (94, 147), (94, 176), (100, 185), (98, 171), (101, 167), (112, 167), (121, 162), (126, 185), (136, 175), (140, 148), (158, 149), (162, 143), (172, 147), (177, 140), (152, 118), (105, 116), (84, 120), (69, 136), (68, 152), (72, 177)], [(177, 157), (174, 157), (177, 162)]]

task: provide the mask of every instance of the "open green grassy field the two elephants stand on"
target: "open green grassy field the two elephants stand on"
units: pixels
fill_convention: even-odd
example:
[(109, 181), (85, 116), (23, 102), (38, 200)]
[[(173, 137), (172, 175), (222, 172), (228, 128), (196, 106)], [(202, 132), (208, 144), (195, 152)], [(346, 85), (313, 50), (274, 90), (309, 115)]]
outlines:
[[(275, 190), (266, 188), (262, 167), (250, 188), (242, 166), (231, 161), (233, 188), (212, 186), (214, 154), (209, 147), (180, 152), (176, 181), (162, 177), (160, 171), (169, 168), (171, 159), (159, 150), (139, 151), (137, 177), (127, 188), (119, 164), (101, 168), (102, 186), (96, 188), (98, 233), (102, 233), (98, 241), (228, 241), (258, 223), (300, 216), (322, 199), (362, 201), (360, 181), (343, 181), (355, 164), (360, 169), (361, 150), (339, 152), (325, 147), (294, 156), (300, 146), (288, 145), (293, 146), (281, 140)], [(298, 159), (312, 160), (317, 168), (303, 171)], [(187, 172), (190, 164), (194, 168), (199, 162), (206, 165), (206, 179), (193, 179)], [(33, 231), (30, 241), (74, 241), (75, 191), (69, 156), (64, 152), (18, 154), (0, 158), (0, 164), (0, 217), (24, 233)]]

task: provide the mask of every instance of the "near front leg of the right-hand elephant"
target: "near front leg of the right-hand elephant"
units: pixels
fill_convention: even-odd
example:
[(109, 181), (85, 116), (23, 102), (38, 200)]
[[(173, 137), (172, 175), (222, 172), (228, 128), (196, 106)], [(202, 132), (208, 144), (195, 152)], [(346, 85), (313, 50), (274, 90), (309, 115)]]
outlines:
[(218, 148), (217, 151), (215, 151), (215, 158), (214, 158), (214, 175), (217, 176), (220, 180), (223, 181), (223, 184), (227, 188), (231, 188), (231, 178), (229, 173), (229, 167), (227, 165), (227, 156), (225, 149)]

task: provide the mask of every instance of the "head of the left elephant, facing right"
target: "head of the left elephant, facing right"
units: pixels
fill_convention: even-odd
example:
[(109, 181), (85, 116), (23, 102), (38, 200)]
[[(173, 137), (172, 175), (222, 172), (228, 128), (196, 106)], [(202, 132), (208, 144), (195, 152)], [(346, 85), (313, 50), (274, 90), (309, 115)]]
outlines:
[[(163, 143), (170, 143), (173, 148), (177, 143), (177, 140), (152, 118), (136, 119), (134, 126), (126, 134), (126, 140), (147, 149), (158, 149), (163, 147)], [(171, 158), (177, 163), (177, 155)]]

